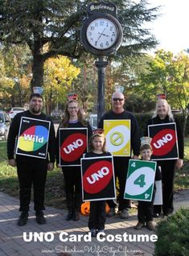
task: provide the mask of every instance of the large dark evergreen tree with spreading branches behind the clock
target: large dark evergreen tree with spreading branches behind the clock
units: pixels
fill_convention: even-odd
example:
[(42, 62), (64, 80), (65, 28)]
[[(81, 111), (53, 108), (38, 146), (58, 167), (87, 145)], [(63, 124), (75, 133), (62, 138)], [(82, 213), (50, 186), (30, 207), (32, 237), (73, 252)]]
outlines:
[[(44, 63), (57, 55), (80, 58), (84, 49), (79, 31), (86, 17), (88, 0), (1, 0), (2, 43), (27, 43), (32, 56), (31, 87), (43, 86)], [(94, 1), (98, 2), (98, 1)], [(156, 18), (158, 8), (148, 8), (146, 0), (138, 4), (127, 0), (117, 5), (124, 40), (117, 56), (134, 56), (156, 45), (154, 36), (143, 27)], [(48, 47), (46, 47), (48, 45)]]

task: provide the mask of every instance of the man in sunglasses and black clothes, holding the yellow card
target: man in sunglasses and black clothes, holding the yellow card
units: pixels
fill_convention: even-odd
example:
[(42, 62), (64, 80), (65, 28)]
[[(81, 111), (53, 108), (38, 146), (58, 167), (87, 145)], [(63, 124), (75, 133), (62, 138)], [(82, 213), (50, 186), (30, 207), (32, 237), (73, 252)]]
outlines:
[[(140, 134), (138, 128), (138, 122), (133, 114), (124, 109), (125, 98), (124, 95), (120, 92), (113, 93), (112, 97), (112, 110), (108, 113), (104, 114), (99, 123), (99, 128), (103, 128), (104, 120), (121, 120), (126, 119), (130, 120), (131, 126), (131, 148), (130, 151), (133, 150), (133, 159), (138, 159), (138, 155), (140, 152)], [(131, 207), (130, 200), (124, 199), (125, 192), (125, 181), (127, 176), (127, 169), (129, 165), (130, 157), (125, 156), (113, 156), (113, 165), (115, 176), (119, 181), (119, 196), (117, 198), (117, 202), (119, 203), (118, 210), (120, 212), (120, 217), (122, 219), (126, 219), (129, 217), (129, 208)], [(107, 213), (108, 217), (112, 217), (115, 215), (115, 207), (117, 204), (114, 203), (113, 200), (108, 200), (109, 204), (109, 213)]]

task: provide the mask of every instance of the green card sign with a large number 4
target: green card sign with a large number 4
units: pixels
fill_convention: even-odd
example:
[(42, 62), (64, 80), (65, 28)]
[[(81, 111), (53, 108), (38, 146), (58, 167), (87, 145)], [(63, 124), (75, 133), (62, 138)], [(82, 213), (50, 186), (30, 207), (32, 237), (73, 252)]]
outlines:
[(125, 199), (152, 200), (156, 165), (153, 161), (129, 160)]

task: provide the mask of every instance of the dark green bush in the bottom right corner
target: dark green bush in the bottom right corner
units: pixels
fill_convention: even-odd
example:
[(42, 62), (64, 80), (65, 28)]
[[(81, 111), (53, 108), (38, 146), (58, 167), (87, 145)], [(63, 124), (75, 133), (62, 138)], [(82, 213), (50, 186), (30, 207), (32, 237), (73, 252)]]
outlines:
[(158, 222), (155, 256), (189, 255), (189, 208), (181, 208), (166, 220)]

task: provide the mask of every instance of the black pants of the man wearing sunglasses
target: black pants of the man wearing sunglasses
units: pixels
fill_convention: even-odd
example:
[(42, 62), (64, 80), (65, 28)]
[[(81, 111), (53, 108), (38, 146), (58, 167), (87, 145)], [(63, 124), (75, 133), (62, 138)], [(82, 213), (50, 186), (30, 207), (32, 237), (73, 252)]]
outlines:
[[(113, 166), (115, 173), (115, 180), (119, 181), (119, 194), (117, 196), (117, 202), (119, 204), (119, 211), (122, 209), (130, 208), (130, 200), (124, 199), (125, 182), (128, 171), (129, 158), (128, 157), (113, 157)], [(108, 200), (109, 208), (115, 208), (117, 204), (113, 200)]]

